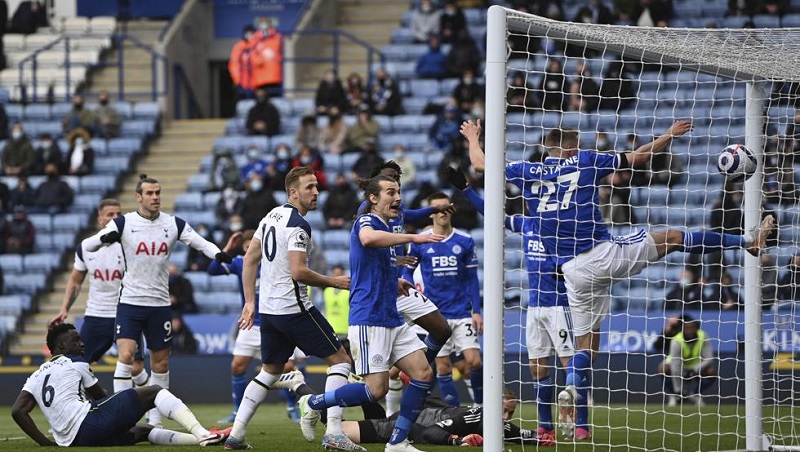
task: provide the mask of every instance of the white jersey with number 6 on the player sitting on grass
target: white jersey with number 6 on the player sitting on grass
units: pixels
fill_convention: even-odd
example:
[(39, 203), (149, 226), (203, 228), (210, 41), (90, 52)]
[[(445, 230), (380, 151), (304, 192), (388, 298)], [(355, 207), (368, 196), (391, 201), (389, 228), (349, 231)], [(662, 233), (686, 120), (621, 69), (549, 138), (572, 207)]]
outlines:
[(97, 384), (89, 364), (57, 355), (28, 377), (22, 390), (30, 393), (53, 430), (59, 446), (69, 446), (91, 408), (86, 388)]

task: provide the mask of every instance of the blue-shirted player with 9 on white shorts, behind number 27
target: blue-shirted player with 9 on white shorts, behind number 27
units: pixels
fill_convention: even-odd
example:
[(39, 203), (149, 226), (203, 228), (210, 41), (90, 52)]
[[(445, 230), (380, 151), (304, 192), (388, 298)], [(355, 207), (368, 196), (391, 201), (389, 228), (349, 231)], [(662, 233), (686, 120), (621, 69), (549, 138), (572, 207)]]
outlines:
[[(483, 215), (483, 198), (467, 184), (466, 177), (460, 171), (449, 168), (448, 179)], [(567, 289), (564, 280), (556, 276), (555, 261), (547, 254), (536, 232), (535, 221), (527, 216), (505, 216), (506, 229), (522, 235), (522, 249), (525, 253), (525, 272), (528, 275), (525, 339), (539, 414), (536, 439), (539, 440), (539, 446), (555, 446), (552, 407), (555, 381), (550, 374), (550, 357), (556, 355), (566, 369), (575, 349)], [(585, 415), (588, 419), (588, 406), (579, 405), (576, 409), (581, 412), (580, 416)]]

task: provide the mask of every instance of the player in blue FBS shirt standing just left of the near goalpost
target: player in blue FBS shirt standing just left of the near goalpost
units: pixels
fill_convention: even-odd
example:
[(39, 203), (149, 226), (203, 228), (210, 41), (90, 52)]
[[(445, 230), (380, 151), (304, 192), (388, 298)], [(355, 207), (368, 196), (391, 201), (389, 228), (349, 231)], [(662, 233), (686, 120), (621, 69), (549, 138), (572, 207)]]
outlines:
[[(450, 197), (434, 193), (428, 197), (431, 207), (450, 206)], [(476, 404), (483, 403), (483, 373), (478, 336), (483, 334), (480, 283), (475, 241), (469, 234), (453, 228), (452, 214), (443, 210), (431, 215), (433, 228), (427, 234), (445, 237), (441, 242), (412, 244), (408, 255), (417, 260), (422, 273), (425, 295), (436, 300), (439, 311), (447, 319), (452, 336), (436, 356), (436, 379), (451, 406), (460, 406), (458, 390), (453, 382), (451, 353), (463, 353), (469, 368)], [(405, 267), (403, 277), (414, 283), (414, 269)]]

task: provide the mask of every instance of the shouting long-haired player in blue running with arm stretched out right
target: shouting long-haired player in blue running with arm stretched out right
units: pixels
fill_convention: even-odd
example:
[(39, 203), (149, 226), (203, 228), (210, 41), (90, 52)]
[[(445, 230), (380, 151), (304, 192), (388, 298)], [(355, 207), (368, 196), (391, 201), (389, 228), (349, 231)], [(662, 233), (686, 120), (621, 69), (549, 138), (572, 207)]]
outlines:
[(388, 176), (365, 181), (367, 207), (356, 218), (350, 234), (350, 315), (348, 339), (356, 373), (365, 383), (351, 383), (325, 394), (304, 396), (298, 402), (300, 426), (309, 441), (319, 410), (330, 406), (356, 406), (386, 395), (389, 369), (394, 365), (408, 374), (411, 383), (403, 394), (400, 412), (386, 451), (416, 451), (408, 442), (431, 388), (433, 373), (422, 349), (425, 345), (403, 322), (397, 310), (397, 293), (408, 293), (411, 284), (398, 279), (395, 247), (406, 243), (430, 243), (436, 234), (394, 233), (388, 221), (400, 212), (400, 187)]

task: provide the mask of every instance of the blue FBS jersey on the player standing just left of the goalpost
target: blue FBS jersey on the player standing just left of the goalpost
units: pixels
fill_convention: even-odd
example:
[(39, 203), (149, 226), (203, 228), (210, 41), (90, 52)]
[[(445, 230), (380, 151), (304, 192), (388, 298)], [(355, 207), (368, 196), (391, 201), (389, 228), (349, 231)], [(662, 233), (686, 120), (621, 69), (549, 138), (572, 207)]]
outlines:
[[(423, 234), (431, 233), (428, 230)], [(474, 307), (478, 308), (476, 313), (480, 313), (480, 291), (472, 289), (479, 287), (478, 257), (475, 241), (469, 234), (454, 229), (441, 242), (412, 243), (408, 255), (418, 259), (425, 296), (436, 303), (446, 319), (470, 317)], [(413, 280), (411, 273), (409, 268), (406, 276), (409, 280)]]

